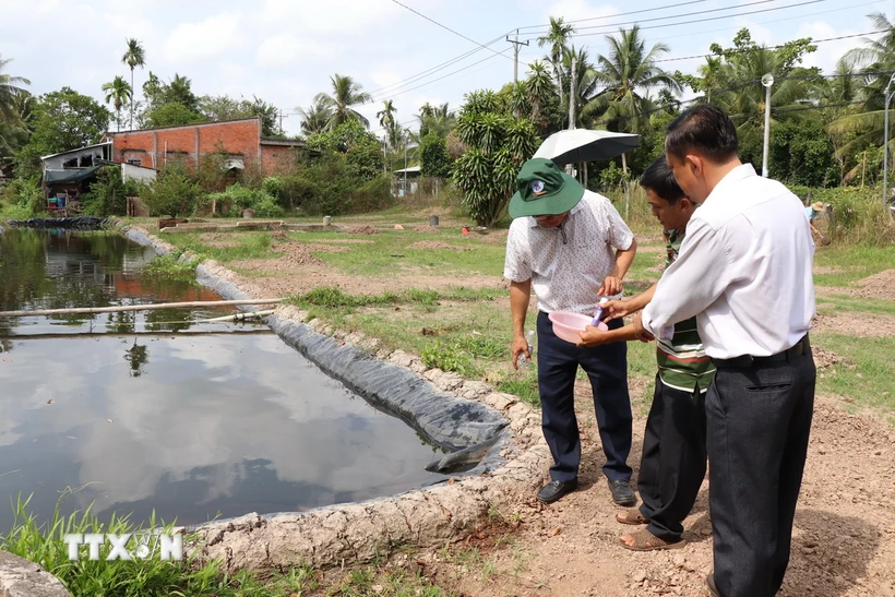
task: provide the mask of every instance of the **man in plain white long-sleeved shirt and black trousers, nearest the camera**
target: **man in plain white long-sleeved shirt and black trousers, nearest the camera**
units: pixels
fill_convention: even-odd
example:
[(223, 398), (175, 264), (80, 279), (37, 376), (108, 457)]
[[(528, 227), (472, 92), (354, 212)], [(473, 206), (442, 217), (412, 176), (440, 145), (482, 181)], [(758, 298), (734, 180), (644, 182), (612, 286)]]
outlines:
[(795, 194), (740, 163), (720, 108), (676, 118), (665, 152), (702, 205), (635, 325), (668, 337), (696, 315), (718, 369), (705, 398), (715, 551), (706, 582), (716, 596), (772, 596), (789, 563), (814, 407), (811, 229)]

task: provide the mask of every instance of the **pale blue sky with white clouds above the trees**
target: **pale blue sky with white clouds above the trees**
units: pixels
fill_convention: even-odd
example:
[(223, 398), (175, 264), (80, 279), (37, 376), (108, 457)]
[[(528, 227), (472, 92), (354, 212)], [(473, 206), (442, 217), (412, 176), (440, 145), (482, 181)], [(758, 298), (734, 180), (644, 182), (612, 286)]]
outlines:
[[(67, 85), (103, 102), (104, 83), (118, 74), (130, 80), (121, 56), (126, 39), (135, 37), (146, 50), (145, 69), (134, 73), (136, 89), (152, 71), (165, 81), (175, 73), (189, 76), (196, 95), (258, 96), (282, 110), (287, 134), (299, 132), (296, 108), (309, 106), (319, 92), (329, 92), (333, 73), (350, 75), (373, 95), (374, 103), (360, 111), (381, 135), (375, 114), (384, 99), (393, 99), (399, 122), (415, 128), (414, 115), (426, 102), (446, 102), (456, 108), (465, 93), (499, 89), (512, 81), (513, 45), (505, 36), (514, 36), (516, 28), (521, 41), (529, 40), (521, 46), (518, 57), (520, 77), (524, 77), (527, 63), (546, 53), (536, 38), (550, 16), (573, 22), (580, 34), (573, 44), (586, 47), (590, 56), (607, 51), (606, 34), (637, 21), (647, 44), (664, 41), (670, 51), (663, 58), (673, 59), (705, 55), (713, 43), (728, 47), (741, 27), (749, 27), (753, 39), (767, 45), (807, 36), (863, 34), (873, 31), (867, 15), (891, 15), (893, 4), (891, 0), (0, 0), (0, 55), (12, 59), (8, 74), (31, 80), (32, 93)], [(838, 57), (860, 44), (860, 37), (820, 43), (804, 64), (832, 72)], [(693, 73), (701, 62), (696, 58), (661, 65)]]

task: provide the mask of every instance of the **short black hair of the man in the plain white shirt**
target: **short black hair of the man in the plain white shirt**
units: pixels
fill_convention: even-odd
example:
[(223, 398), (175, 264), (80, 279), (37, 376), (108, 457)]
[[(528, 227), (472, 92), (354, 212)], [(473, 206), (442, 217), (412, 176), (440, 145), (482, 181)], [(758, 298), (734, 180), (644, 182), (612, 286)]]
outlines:
[(724, 164), (737, 157), (739, 142), (733, 121), (723, 109), (708, 104), (690, 108), (665, 130), (665, 152), (679, 159), (699, 152), (712, 162)]

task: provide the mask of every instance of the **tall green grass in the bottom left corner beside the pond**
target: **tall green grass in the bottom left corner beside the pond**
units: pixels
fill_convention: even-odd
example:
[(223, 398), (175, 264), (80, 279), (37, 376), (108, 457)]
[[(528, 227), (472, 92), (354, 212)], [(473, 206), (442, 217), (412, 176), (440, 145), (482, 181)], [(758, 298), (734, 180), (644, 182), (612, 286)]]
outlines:
[[(88, 508), (83, 513), (62, 516), (61, 502), (72, 490), (62, 493), (57, 502), (52, 518), (38, 525), (28, 512), (28, 500), (17, 498), (14, 506), (15, 520), (12, 529), (0, 539), (0, 549), (40, 564), (57, 576), (72, 595), (104, 595), (105, 597), (289, 597), (308, 595), (317, 588), (315, 575), (309, 570), (297, 568), (287, 574), (274, 574), (261, 578), (249, 572), (232, 575), (220, 572), (220, 562), (213, 561), (201, 569), (192, 570), (189, 553), (181, 562), (162, 561), (151, 554), (145, 559), (131, 561), (106, 561), (110, 549), (105, 544), (99, 549), (99, 560), (86, 559), (86, 548), (82, 548), (83, 559), (70, 561), (65, 534), (114, 533), (126, 534), (140, 530), (128, 517), (111, 516), (103, 524)], [(170, 534), (174, 525), (156, 525), (154, 517), (148, 521), (148, 529), (160, 528)], [(133, 539), (131, 539), (133, 541)], [(186, 544), (186, 541), (184, 541)], [(129, 542), (129, 551), (136, 550), (135, 542)]]

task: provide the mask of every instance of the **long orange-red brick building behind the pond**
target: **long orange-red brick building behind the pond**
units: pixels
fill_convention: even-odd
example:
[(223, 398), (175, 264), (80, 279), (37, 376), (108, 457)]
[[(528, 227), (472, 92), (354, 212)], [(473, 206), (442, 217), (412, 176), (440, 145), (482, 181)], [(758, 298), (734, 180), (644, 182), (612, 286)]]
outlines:
[(200, 122), (182, 127), (162, 127), (142, 131), (108, 132), (111, 160), (144, 168), (164, 168), (171, 162), (194, 166), (203, 156), (226, 156), (226, 167), (242, 170), (260, 168), (264, 176), (286, 171), (295, 164), (303, 141), (261, 136), (261, 118)]

